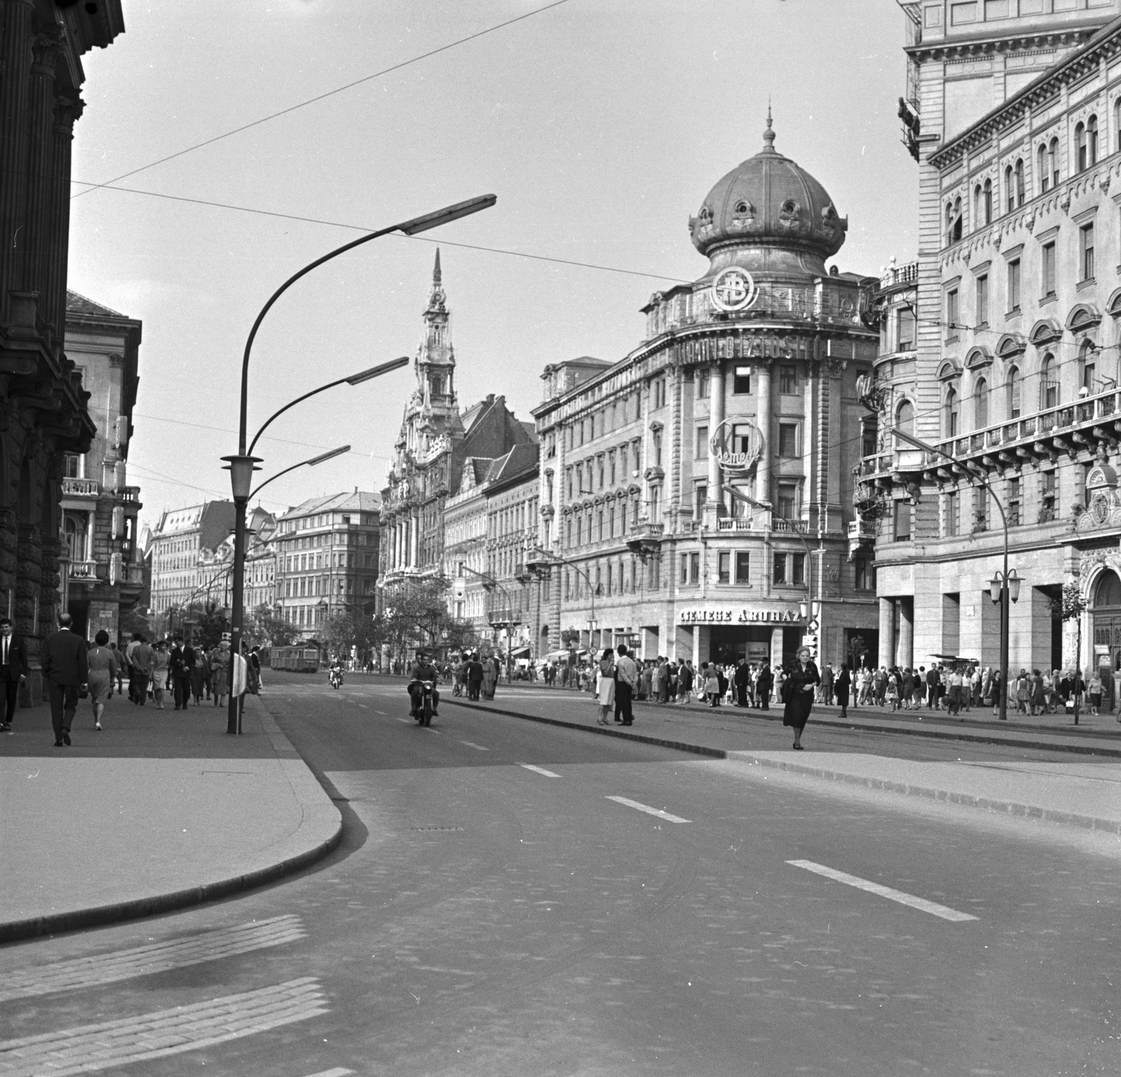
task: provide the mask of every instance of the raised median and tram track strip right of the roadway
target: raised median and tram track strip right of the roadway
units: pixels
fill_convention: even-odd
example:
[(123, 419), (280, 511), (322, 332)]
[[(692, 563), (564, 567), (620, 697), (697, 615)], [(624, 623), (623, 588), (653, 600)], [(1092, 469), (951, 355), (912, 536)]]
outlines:
[[(904, 711), (887, 715), (861, 708), (850, 720), (840, 718), (837, 708), (816, 705), (807, 727), (807, 751), (756, 751), (760, 734), (778, 733), (781, 706), (769, 711), (704, 706), (674, 706), (648, 702), (634, 705), (634, 725), (623, 729), (612, 724), (595, 724), (596, 708), (587, 692), (540, 690), (528, 683), (499, 685), (497, 698), (482, 703), (466, 703), (450, 694), (442, 705), (452, 703), (491, 710), (531, 721), (583, 729), (601, 736), (624, 737), (647, 744), (694, 752), (730, 760), (745, 766), (784, 771), (818, 781), (842, 782), (868, 789), (923, 797), (989, 812), (1046, 819), (1087, 830), (1121, 834), (1121, 737), (1112, 715), (1097, 716), (1096, 725), (1085, 728), (1051, 728), (1039, 716), (1029, 725), (1023, 716), (1015, 721), (983, 720), (965, 722), (944, 711)], [(976, 714), (976, 712), (974, 712)], [(886, 754), (882, 740), (868, 753), (836, 752), (814, 743), (818, 727), (859, 729), (921, 736), (949, 742), (970, 740), (1009, 749), (1008, 757), (983, 762), (920, 762)], [(784, 740), (787, 738), (784, 736)], [(854, 740), (859, 745), (859, 739)], [(1023, 748), (1063, 752), (1067, 761), (1022, 758)]]

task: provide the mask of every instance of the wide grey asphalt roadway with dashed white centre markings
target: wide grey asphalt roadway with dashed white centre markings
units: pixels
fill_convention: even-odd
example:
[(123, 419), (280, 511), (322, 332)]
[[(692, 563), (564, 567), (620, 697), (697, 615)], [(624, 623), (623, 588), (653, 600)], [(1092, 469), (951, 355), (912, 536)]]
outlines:
[[(226, 902), (0, 949), (0, 1037), (40, 1037), (28, 1057), (89, 1042), (146, 1077), (1121, 1070), (1117, 856), (466, 708), (425, 730), (398, 683), (267, 683), (342, 846)], [(151, 1040), (175, 1014), (179, 1042)], [(37, 1065), (0, 1074), (68, 1071)]]

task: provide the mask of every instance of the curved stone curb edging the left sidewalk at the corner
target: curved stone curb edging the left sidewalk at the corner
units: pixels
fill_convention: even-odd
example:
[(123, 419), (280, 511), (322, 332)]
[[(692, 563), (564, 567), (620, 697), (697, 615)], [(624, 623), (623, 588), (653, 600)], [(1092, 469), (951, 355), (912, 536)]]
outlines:
[(247, 697), (247, 707), (250, 706), (259, 708), (258, 717), (272, 744), (274, 752), (276, 752), (280, 773), (291, 788), (303, 813), (303, 821), (298, 830), (285, 840), (284, 846), (290, 847), (295, 840), (300, 840), (304, 848), (291, 853), (291, 855), (281, 856), (263, 867), (198, 886), (186, 886), (163, 894), (108, 902), (90, 909), (72, 909), (65, 912), (0, 923), (0, 945), (44, 935), (102, 927), (122, 920), (159, 915), (189, 905), (229, 898), (241, 891), (272, 883), (286, 875), (303, 871), (331, 853), (342, 840), (341, 812), (299, 753), (293, 747), (291, 742), (266, 710), (263, 703), (257, 697)]

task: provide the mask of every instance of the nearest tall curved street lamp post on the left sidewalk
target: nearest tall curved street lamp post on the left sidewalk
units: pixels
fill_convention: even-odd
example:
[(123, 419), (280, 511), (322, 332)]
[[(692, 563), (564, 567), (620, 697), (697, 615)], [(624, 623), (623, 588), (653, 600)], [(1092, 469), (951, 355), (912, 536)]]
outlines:
[[(457, 221), (461, 218), (470, 217), (472, 213), (478, 213), (480, 210), (490, 209), (498, 201), (498, 197), (493, 194), (484, 194), (479, 197), (467, 199), (465, 202), (456, 202), (454, 205), (444, 206), (444, 209), (436, 210), (433, 213), (425, 213), (421, 217), (415, 217), (407, 221), (401, 221), (398, 224), (391, 224), (389, 228), (382, 228), (378, 231), (370, 232), (367, 236), (362, 236), (359, 239), (352, 240), (349, 243), (343, 243), (342, 247), (336, 247), (334, 250), (328, 251), (321, 258), (316, 258), (315, 261), (308, 263), (303, 269), (294, 273), (284, 284), (280, 285), (272, 295), (269, 296), (268, 302), (261, 307), (260, 313), (253, 321), (253, 326), (249, 331), (249, 337), (245, 340), (245, 350), (241, 359), (241, 399), (239, 405), (239, 418), (238, 418), (238, 452), (233, 455), (223, 457), (222, 459), (228, 462), (228, 469), (230, 471), (230, 486), (233, 491), (233, 504), (234, 504), (234, 537), (233, 537), (233, 596), (230, 618), (230, 687), (233, 687), (233, 673), (235, 669), (235, 663), (238, 655), (241, 651), (241, 630), (244, 617), (244, 611), (242, 610), (243, 601), (243, 589), (244, 589), (244, 572), (245, 572), (245, 505), (249, 501), (251, 487), (253, 482), (253, 472), (259, 470), (257, 464), (261, 462), (260, 457), (254, 457), (252, 454), (252, 448), (257, 444), (257, 439), (260, 438), (261, 431), (265, 426), (268, 426), (277, 415), (287, 411), (293, 404), (299, 403), (299, 401), (306, 399), (308, 396), (314, 395), (313, 393), (306, 393), (304, 396), (291, 404), (285, 405), (280, 411), (276, 412), (269, 420), (265, 423), (265, 426), (257, 432), (257, 436), (253, 438), (252, 445), (249, 451), (245, 450), (245, 434), (247, 434), (247, 416), (249, 409), (249, 356), (252, 351), (253, 340), (257, 337), (257, 330), (260, 329), (261, 322), (265, 320), (265, 315), (272, 309), (272, 304), (288, 291), (291, 285), (294, 285), (300, 277), (306, 276), (313, 269), (322, 266), (324, 263), (330, 261), (332, 258), (339, 255), (345, 254), (348, 250), (353, 250), (355, 247), (361, 247), (363, 243), (370, 242), (372, 239), (378, 239), (381, 236), (389, 236), (391, 232), (404, 232), (406, 236), (416, 236), (420, 232), (425, 232), (432, 228), (438, 228), (441, 224), (447, 224), (451, 221)], [(408, 362), (406, 358), (404, 360)], [(381, 374), (386, 374), (388, 370), (395, 370), (402, 366), (400, 359), (391, 360), (390, 362), (382, 363), (380, 367), (371, 367), (369, 370), (364, 370), (361, 374), (352, 375), (350, 378), (342, 378), (337, 381), (332, 381), (328, 385), (321, 386), (319, 389), (315, 392), (323, 392), (324, 389), (331, 388), (335, 385), (341, 385), (342, 381), (346, 381), (350, 385), (358, 385), (361, 381), (368, 380), (369, 378), (376, 378)], [(263, 484), (262, 484), (263, 485)], [(226, 715), (226, 733), (237, 734), (241, 731), (241, 711), (239, 702), (234, 697), (233, 692), (230, 692), (230, 709)]]

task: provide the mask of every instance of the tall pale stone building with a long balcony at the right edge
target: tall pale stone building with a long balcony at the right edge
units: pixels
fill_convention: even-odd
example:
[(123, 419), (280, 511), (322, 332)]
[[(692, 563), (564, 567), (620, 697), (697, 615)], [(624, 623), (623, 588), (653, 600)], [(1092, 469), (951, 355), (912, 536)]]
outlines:
[[(879, 661), (949, 654), (999, 666), (990, 591), (1007, 533), (1020, 579), (1009, 669), (1100, 669), (1114, 702), (1119, 4), (904, 11), (900, 114), (918, 163), (919, 257), (878, 289), (882, 348), (863, 386), (858, 476)], [(1064, 619), (1069, 581), (1087, 609), (1068, 604), (1075, 616)]]

